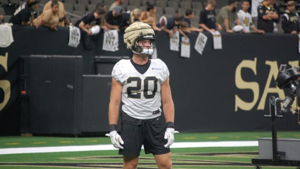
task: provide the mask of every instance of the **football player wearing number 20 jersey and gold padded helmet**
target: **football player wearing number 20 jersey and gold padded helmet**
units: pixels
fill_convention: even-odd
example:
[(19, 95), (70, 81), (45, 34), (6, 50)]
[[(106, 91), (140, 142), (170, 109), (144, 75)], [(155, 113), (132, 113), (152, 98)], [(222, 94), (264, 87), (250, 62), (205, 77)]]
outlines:
[[(120, 60), (112, 70), (109, 102), (109, 128), (123, 169), (136, 169), (142, 145), (153, 154), (159, 169), (171, 169), (169, 146), (174, 142), (174, 104), (169, 70), (160, 59), (149, 59), (155, 47), (150, 25), (135, 22), (125, 30), (124, 43), (133, 51), (130, 60)], [(121, 131), (117, 132), (120, 101)], [(162, 101), (162, 102), (161, 102)], [(164, 117), (162, 116), (163, 104)]]

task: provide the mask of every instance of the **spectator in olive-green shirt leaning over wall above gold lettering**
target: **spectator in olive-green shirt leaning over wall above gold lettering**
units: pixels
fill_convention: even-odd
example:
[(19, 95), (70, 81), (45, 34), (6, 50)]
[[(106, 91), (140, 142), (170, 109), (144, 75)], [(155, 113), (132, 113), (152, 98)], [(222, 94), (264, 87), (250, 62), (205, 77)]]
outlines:
[(241, 25), (236, 13), (238, 0), (228, 0), (228, 5), (222, 7), (217, 15), (217, 23), (222, 26), (222, 31), (232, 33), (235, 25)]

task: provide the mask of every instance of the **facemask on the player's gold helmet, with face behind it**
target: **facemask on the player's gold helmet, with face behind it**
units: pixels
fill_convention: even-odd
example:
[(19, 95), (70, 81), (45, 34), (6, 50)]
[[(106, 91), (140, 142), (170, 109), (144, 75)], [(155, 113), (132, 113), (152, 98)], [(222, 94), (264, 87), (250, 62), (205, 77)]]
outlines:
[[(148, 40), (150, 41), (149, 44), (148, 44)], [(155, 38), (152, 35), (137, 38), (134, 46), (135, 47), (133, 47), (132, 49), (134, 53), (152, 55), (155, 48)]]

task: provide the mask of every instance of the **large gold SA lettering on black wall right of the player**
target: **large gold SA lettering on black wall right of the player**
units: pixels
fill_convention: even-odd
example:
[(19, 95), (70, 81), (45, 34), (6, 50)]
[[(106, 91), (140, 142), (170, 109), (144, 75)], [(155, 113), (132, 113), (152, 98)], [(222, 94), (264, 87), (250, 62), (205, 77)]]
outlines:
[[(277, 86), (270, 87), (271, 82), (275, 81), (279, 72), (277, 61), (265, 61), (265, 64), (270, 66), (270, 71), (266, 80), (265, 88), (259, 100), (259, 83), (256, 81), (244, 81), (241, 74), (241, 69), (248, 68), (251, 69), (256, 76), (256, 63), (257, 58), (255, 57), (254, 61), (241, 61), (236, 68), (235, 83), (237, 88), (241, 90), (251, 90), (253, 92), (253, 100), (251, 102), (246, 102), (242, 100), (237, 94), (235, 94), (235, 111), (238, 111), (239, 108), (242, 110), (252, 110), (258, 101), (259, 104), (257, 106), (257, 110), (264, 110), (266, 103), (268, 104), (268, 102), (266, 102), (268, 93), (277, 93), (278, 97), (285, 98), (284, 90), (279, 89)], [(289, 61), (288, 64), (291, 67), (298, 66), (299, 61)], [(294, 102), (292, 107), (296, 108), (296, 106), (297, 102)]]

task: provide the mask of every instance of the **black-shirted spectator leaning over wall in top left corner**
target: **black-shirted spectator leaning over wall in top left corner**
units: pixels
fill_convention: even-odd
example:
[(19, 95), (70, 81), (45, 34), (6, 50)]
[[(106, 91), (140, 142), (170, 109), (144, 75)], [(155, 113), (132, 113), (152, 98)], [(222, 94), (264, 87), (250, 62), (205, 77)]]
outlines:
[(39, 2), (40, 0), (28, 0), (27, 2), (23, 3), (15, 10), (14, 15), (12, 15), (8, 22), (21, 26), (35, 26), (33, 23), (34, 8)]

